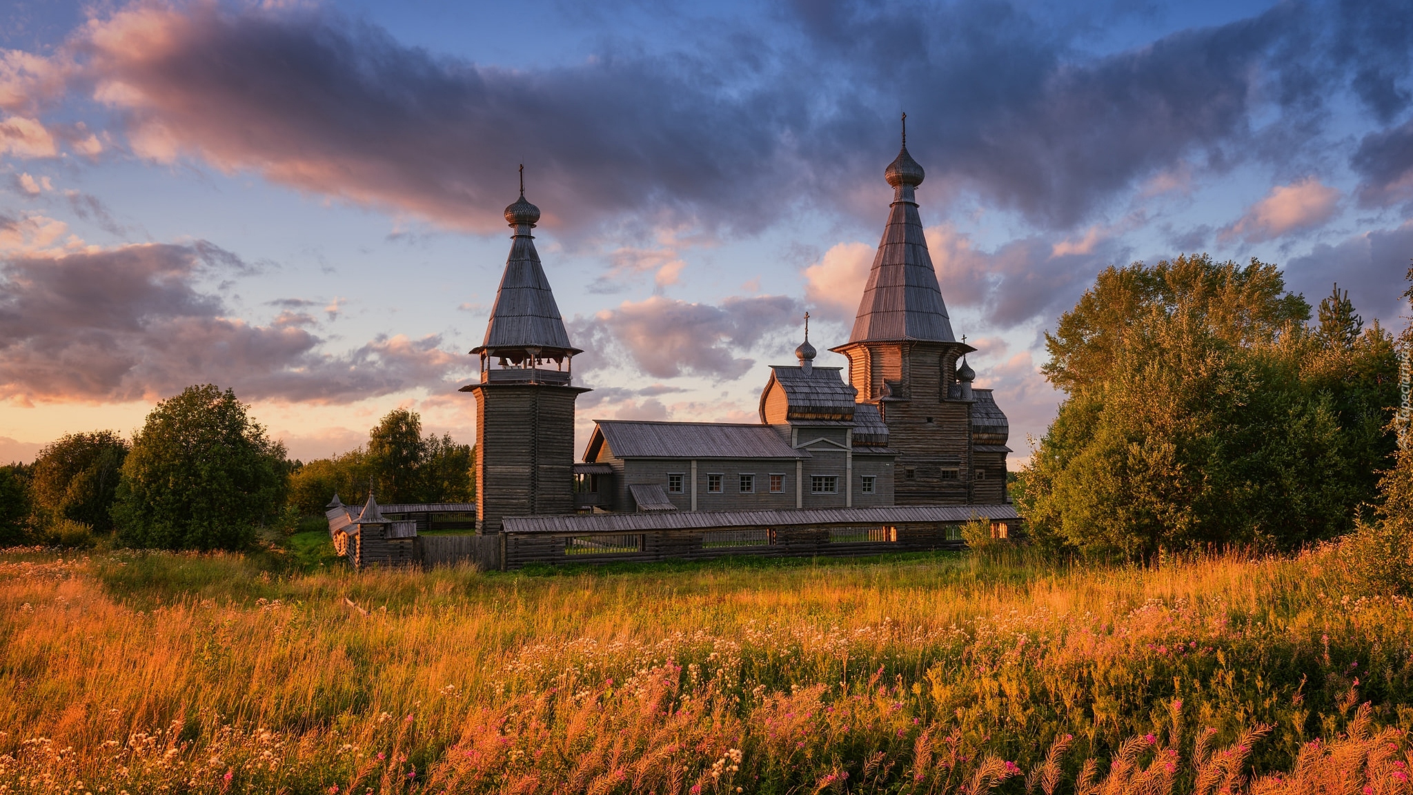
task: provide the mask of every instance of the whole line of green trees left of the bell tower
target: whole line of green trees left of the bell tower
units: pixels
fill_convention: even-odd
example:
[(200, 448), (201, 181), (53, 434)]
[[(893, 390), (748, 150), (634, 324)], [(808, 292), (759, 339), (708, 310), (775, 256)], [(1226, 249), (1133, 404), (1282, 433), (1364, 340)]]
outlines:
[(422, 434), (411, 410), (390, 412), (369, 443), (332, 458), (291, 461), (233, 390), (187, 388), (160, 402), (131, 443), (112, 430), (71, 433), (32, 464), (0, 467), (0, 546), (240, 550), (261, 529), (292, 532), (345, 502), (468, 502), (473, 450)]

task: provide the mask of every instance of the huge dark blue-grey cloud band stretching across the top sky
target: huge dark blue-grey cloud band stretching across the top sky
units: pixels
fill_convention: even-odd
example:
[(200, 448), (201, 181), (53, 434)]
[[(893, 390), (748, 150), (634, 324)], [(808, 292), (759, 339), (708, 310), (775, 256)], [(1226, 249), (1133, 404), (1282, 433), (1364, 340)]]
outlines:
[[(497, 229), (514, 164), (533, 153), (530, 195), (548, 226), (637, 216), (746, 232), (808, 202), (872, 215), (885, 130), (907, 108), (940, 195), (975, 191), (1068, 229), (1140, 185), (1177, 190), (1194, 167), (1284, 158), (1323, 133), (1335, 85), (1381, 117), (1396, 112), (1409, 42), (1388, 31), (1410, 16), (1280, 4), (1084, 57), (1082, 21), (1006, 3), (832, 3), (783, 8), (793, 37), (691, 31), (692, 55), (510, 71), (305, 4), (137, 3), (51, 58), (4, 55), (0, 106), (40, 124), (37, 109), (82, 88), (146, 157), (196, 157), (452, 228)], [(16, 130), (11, 149), (57, 150), (42, 126)], [(75, 151), (102, 149), (93, 133), (65, 136)]]

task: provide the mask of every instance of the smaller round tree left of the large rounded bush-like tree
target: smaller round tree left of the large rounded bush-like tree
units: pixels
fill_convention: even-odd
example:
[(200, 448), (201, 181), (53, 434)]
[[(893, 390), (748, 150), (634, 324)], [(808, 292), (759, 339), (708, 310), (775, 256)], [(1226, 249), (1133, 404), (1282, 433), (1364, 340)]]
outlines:
[(66, 433), (41, 450), (30, 487), (37, 528), (68, 519), (97, 532), (112, 530), (109, 511), (127, 450), (123, 437), (112, 430)]

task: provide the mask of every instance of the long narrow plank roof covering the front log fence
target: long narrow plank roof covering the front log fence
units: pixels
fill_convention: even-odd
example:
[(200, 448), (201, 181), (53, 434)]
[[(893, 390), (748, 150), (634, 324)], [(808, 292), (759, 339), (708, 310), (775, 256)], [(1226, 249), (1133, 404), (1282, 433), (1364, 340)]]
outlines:
[(903, 525), (966, 522), (972, 516), (1019, 519), (1012, 504), (879, 505), (873, 508), (786, 508), (777, 511), (661, 511), (654, 513), (577, 513), (506, 516), (506, 533), (613, 533), (706, 530), (716, 528), (791, 528), (801, 525)]

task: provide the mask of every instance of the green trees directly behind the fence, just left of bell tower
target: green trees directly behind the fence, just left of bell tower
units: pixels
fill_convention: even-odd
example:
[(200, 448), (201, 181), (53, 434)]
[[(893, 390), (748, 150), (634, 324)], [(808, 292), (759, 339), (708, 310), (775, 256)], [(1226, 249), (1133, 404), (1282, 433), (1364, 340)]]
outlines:
[(475, 455), (451, 434), (422, 436), (417, 412), (396, 409), (369, 431), (366, 451), (350, 450), (304, 464), (290, 478), (290, 504), (302, 515), (322, 513), (338, 492), (346, 505), (367, 499), (374, 482), (380, 502), (471, 502), (476, 497)]

